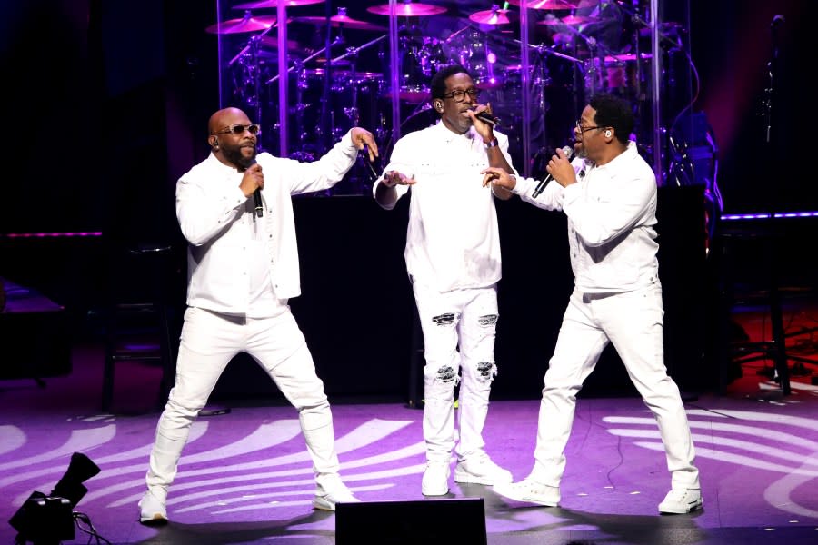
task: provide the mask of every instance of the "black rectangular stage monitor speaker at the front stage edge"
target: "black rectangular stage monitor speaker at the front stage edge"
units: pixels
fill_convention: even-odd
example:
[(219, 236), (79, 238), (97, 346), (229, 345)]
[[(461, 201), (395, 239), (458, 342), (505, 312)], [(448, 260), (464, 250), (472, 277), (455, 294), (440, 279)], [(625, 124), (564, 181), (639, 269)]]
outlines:
[(335, 545), (486, 545), (483, 498), (364, 501), (335, 506)]

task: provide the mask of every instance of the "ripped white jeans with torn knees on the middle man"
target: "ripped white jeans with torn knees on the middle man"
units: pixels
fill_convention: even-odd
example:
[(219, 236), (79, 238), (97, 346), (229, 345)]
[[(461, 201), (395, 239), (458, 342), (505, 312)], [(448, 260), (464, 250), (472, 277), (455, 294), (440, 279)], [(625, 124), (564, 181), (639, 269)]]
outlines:
[[(413, 282), (424, 332), (424, 441), (429, 461), (483, 451), (489, 393), (497, 374), (497, 290), (436, 292)], [(459, 347), (459, 352), (458, 352)], [(458, 372), (462, 376), (458, 376)], [(460, 383), (460, 441), (454, 445), (454, 387)]]

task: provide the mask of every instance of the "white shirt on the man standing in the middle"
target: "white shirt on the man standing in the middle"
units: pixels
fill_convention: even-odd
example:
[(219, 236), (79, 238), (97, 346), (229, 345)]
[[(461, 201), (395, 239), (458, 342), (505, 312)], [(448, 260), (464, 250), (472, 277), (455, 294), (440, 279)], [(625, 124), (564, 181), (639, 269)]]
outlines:
[[(495, 132), (505, 160), (508, 137)], [(483, 187), (489, 165), (472, 127), (456, 134), (443, 123), (406, 134), (394, 144), (385, 172), (414, 176), (404, 257), (414, 280), (439, 292), (484, 288), (500, 280), (500, 236), (494, 195)], [(380, 183), (380, 181), (378, 181)], [(400, 199), (410, 186), (396, 185)], [(377, 183), (373, 187), (373, 194)]]

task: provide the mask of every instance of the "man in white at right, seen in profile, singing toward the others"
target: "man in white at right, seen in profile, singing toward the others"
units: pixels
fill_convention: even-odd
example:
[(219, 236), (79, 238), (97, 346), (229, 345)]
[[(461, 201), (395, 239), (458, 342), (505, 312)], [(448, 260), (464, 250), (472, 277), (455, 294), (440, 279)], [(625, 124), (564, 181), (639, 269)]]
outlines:
[(631, 142), (633, 112), (610, 94), (597, 94), (576, 123), (569, 163), (562, 150), (546, 170), (554, 177), (532, 196), (537, 182), (503, 169), (485, 171), (499, 185), (545, 210), (568, 217), (574, 292), (568, 301), (554, 355), (545, 373), (534, 469), (523, 481), (495, 486), (512, 500), (554, 507), (560, 501), (564, 449), (574, 421), (576, 394), (613, 342), (628, 376), (659, 425), (671, 490), (663, 514), (702, 507), (699, 471), (687, 414), (663, 352), (662, 285), (656, 252), (656, 179)]

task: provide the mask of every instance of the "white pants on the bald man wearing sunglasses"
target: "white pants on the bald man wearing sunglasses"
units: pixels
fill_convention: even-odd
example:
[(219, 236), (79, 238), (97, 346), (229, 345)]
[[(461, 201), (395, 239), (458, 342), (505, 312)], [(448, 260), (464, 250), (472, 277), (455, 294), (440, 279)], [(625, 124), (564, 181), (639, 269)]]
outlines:
[(185, 311), (175, 385), (156, 426), (145, 478), (148, 488), (165, 491), (174, 481), (191, 424), (227, 363), (239, 352), (250, 354), (298, 411), (319, 490), (338, 478), (333, 417), (324, 383), (315, 374), (313, 357), (289, 307), (264, 319), (191, 307)]

